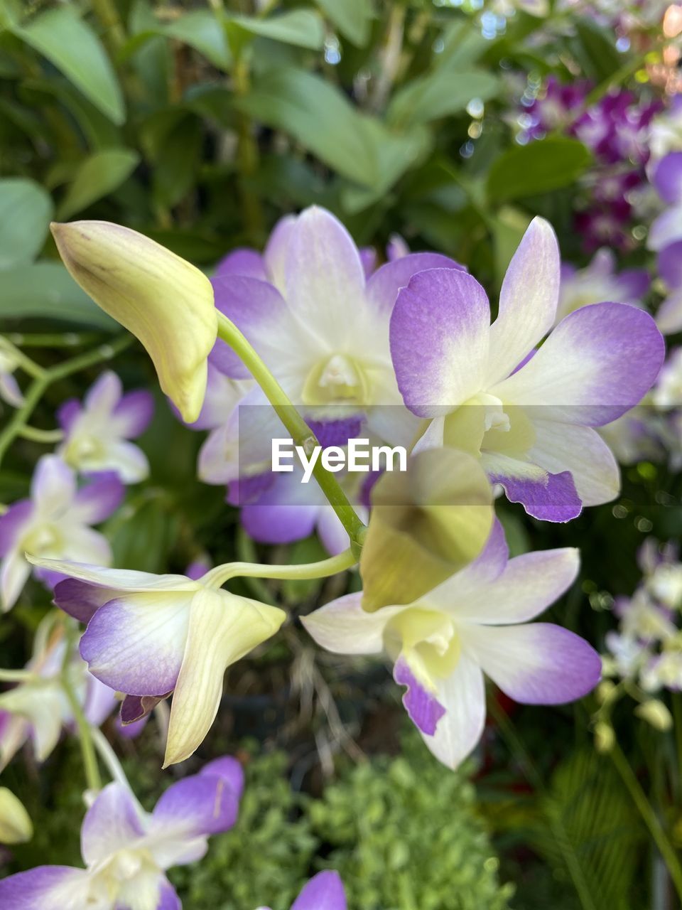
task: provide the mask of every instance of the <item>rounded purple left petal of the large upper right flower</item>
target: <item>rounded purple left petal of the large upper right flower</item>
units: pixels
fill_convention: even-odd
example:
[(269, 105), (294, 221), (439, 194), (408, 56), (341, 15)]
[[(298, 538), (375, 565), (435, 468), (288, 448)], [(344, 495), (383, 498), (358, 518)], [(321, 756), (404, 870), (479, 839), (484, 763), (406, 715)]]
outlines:
[(433, 417), (482, 389), (489, 329), (486, 292), (476, 278), (456, 268), (413, 276), (398, 292), (390, 324), (391, 356), (407, 407)]

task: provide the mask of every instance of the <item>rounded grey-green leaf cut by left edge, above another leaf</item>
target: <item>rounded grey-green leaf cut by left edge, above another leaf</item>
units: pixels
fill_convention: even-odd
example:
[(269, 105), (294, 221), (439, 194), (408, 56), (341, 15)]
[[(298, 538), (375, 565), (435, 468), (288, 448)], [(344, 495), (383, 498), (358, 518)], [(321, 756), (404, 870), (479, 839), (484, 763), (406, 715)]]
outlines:
[(52, 210), (52, 198), (35, 180), (0, 180), (0, 268), (33, 262), (45, 243)]

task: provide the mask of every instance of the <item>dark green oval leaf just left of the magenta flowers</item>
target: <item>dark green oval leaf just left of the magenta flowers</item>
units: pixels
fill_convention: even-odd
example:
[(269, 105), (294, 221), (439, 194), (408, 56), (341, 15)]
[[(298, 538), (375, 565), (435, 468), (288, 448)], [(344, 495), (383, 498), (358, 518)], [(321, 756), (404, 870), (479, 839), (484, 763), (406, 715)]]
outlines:
[(510, 148), (490, 168), (488, 197), (501, 203), (567, 187), (590, 161), (587, 148), (577, 139), (548, 138)]

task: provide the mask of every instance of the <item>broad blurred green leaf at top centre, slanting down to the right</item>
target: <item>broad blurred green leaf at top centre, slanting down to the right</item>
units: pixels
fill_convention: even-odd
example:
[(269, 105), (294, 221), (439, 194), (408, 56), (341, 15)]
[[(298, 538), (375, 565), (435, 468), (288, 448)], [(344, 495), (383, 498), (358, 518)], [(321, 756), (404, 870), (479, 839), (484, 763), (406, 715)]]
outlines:
[(362, 116), (320, 76), (300, 69), (273, 70), (235, 106), (266, 126), (294, 136), (339, 174), (367, 187), (379, 177), (376, 148)]

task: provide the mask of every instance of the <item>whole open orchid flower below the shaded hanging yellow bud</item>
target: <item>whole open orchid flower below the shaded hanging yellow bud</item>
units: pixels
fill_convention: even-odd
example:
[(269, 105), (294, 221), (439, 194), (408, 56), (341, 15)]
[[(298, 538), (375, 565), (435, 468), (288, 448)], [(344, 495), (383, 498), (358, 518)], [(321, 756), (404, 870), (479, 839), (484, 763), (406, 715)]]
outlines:
[(426, 745), (456, 768), (483, 733), (484, 673), (526, 704), (571, 702), (597, 684), (601, 662), (587, 642), (528, 622), (567, 591), (577, 570), (573, 549), (509, 560), (496, 523), (478, 559), (418, 601), (370, 613), (361, 593), (346, 594), (301, 621), (327, 651), (386, 652)]

